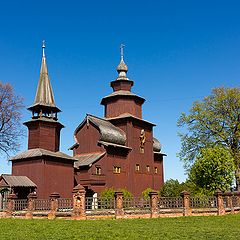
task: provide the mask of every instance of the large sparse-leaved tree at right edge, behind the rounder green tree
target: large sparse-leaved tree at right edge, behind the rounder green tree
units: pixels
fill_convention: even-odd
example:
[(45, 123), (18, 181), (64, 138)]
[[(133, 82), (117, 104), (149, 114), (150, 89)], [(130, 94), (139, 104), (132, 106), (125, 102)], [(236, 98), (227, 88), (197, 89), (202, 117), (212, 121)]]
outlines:
[(233, 157), (238, 190), (240, 164), (240, 88), (215, 88), (210, 96), (193, 103), (189, 114), (182, 113), (178, 126), (182, 147), (179, 157), (190, 170), (203, 148), (222, 146)]

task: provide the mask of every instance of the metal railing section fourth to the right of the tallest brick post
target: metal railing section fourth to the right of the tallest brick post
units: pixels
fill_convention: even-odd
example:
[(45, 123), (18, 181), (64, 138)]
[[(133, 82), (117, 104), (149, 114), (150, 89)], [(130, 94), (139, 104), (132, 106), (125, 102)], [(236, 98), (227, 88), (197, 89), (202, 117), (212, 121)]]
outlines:
[(190, 208), (216, 208), (217, 198), (209, 196), (190, 197)]

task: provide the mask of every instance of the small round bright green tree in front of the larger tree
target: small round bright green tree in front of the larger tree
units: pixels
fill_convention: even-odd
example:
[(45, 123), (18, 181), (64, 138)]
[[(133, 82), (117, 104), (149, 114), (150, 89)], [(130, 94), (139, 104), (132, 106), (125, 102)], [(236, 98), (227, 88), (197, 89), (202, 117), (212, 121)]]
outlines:
[(233, 183), (233, 173), (233, 157), (224, 148), (215, 146), (201, 150), (190, 170), (189, 179), (202, 191), (228, 191)]

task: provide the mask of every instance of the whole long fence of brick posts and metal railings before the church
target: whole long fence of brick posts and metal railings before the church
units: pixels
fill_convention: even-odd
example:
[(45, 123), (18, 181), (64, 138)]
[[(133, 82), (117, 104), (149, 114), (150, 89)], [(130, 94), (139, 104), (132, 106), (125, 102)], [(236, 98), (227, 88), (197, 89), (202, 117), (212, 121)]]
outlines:
[(124, 198), (123, 193), (115, 192), (114, 198), (103, 198), (86, 197), (85, 190), (80, 188), (76, 189), (73, 198), (60, 198), (59, 194), (54, 193), (49, 199), (37, 199), (36, 194), (29, 194), (29, 200), (10, 196), (5, 204), (4, 213), (8, 216), (12, 216), (14, 211), (19, 211), (22, 216), (25, 211), (26, 217), (32, 217), (33, 214), (51, 218), (57, 215), (71, 216), (73, 219), (106, 215), (115, 215), (116, 218), (136, 215), (158, 217), (164, 214), (189, 216), (199, 213), (223, 215), (240, 211), (240, 193), (222, 194), (218, 191), (214, 196), (190, 196), (182, 192), (181, 197), (159, 197), (157, 192), (150, 192), (149, 198)]

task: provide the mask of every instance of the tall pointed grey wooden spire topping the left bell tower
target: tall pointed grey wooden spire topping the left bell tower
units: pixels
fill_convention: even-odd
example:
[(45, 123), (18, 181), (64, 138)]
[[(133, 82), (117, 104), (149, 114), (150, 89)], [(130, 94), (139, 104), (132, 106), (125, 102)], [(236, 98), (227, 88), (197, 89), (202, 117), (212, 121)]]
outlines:
[(33, 105), (28, 109), (33, 110), (34, 112), (42, 111), (47, 114), (60, 111), (60, 109), (56, 107), (52, 86), (48, 76), (48, 69), (45, 56), (45, 41), (43, 41), (42, 43), (42, 64), (35, 100)]

